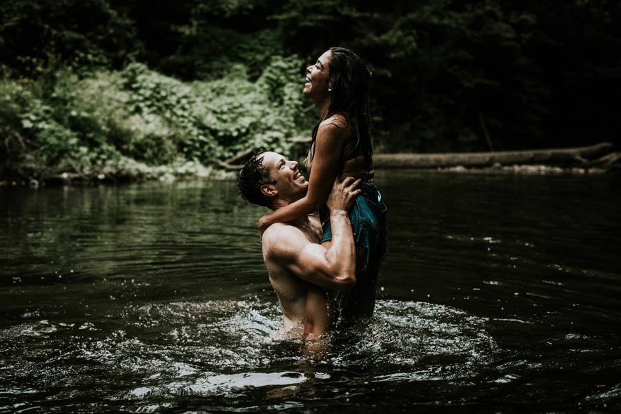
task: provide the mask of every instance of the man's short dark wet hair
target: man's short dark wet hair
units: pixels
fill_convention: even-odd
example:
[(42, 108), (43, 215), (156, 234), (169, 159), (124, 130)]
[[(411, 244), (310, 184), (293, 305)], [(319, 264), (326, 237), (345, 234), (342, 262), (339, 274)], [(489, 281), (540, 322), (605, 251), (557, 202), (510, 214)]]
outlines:
[(263, 166), (263, 154), (267, 152), (265, 148), (259, 148), (248, 158), (237, 177), (237, 188), (239, 194), (248, 201), (256, 205), (272, 208), (272, 200), (261, 192), (261, 186), (274, 184), (270, 172)]

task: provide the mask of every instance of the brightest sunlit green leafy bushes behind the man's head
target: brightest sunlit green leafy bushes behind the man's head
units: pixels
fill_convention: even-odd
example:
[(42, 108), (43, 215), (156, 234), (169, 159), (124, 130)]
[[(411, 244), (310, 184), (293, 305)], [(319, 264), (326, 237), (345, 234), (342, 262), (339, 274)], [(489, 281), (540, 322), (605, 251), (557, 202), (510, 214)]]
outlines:
[(250, 146), (288, 151), (286, 138), (300, 134), (301, 97), (292, 92), (297, 87), (291, 81), (292, 62), (273, 59), (255, 83), (248, 81), (242, 65), (210, 82), (184, 84), (139, 64), (130, 65), (121, 76), (131, 92), (132, 112), (174, 127), (168, 141), (177, 152), (209, 164)]

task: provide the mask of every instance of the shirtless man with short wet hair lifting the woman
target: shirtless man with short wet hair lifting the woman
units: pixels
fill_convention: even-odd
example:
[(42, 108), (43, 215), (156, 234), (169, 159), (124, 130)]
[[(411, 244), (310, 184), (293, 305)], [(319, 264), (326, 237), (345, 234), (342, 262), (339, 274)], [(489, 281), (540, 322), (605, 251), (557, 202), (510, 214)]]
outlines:
[[(305, 341), (326, 333), (337, 318), (373, 313), (377, 274), (371, 282), (357, 283), (356, 248), (348, 218), (348, 209), (359, 194), (358, 183), (347, 178), (333, 184), (326, 200), (331, 241), (317, 244), (322, 238), (322, 226), (315, 216), (275, 223), (263, 234), (264, 262), (283, 311), (284, 325), (289, 328), (304, 321)], [(246, 162), (237, 185), (244, 199), (271, 209), (294, 203), (308, 189), (297, 162), (264, 149)], [(379, 263), (371, 268), (377, 272)], [(364, 292), (356, 293), (361, 290)], [(334, 291), (344, 291), (344, 304), (337, 306)], [(352, 292), (355, 301), (347, 300)]]

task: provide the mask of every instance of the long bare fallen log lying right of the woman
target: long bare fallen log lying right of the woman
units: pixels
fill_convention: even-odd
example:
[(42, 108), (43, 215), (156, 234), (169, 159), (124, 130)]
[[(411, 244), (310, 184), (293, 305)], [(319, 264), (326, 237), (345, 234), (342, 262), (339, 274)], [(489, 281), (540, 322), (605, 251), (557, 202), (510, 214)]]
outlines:
[(588, 167), (610, 152), (611, 143), (589, 147), (531, 149), (524, 151), (463, 152), (447, 154), (374, 154), (375, 168), (491, 167), (494, 165), (573, 165)]

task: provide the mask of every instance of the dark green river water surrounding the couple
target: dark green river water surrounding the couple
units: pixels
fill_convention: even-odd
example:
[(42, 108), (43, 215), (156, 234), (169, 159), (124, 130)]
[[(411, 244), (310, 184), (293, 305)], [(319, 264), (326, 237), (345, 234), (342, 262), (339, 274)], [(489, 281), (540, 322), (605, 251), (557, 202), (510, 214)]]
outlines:
[(621, 177), (379, 171), (375, 315), (286, 339), (234, 180), (0, 187), (0, 413), (621, 409)]

